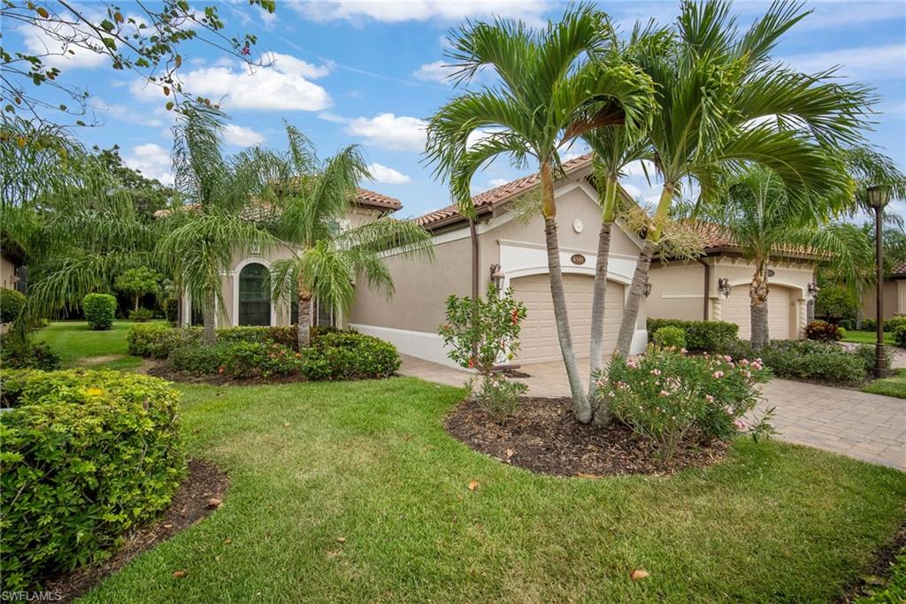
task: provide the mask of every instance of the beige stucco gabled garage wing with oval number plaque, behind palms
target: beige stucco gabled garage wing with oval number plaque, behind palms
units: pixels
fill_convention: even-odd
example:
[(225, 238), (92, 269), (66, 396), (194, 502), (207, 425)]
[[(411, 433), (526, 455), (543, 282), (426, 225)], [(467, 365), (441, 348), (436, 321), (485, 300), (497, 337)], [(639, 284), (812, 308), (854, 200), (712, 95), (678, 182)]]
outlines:
[[(576, 355), (587, 357), (591, 334), (592, 285), (601, 226), (598, 192), (590, 183), (591, 156), (564, 163), (565, 177), (555, 183), (560, 262), (563, 266), (569, 321)], [(477, 210), (477, 263), (469, 222), (455, 206), (416, 218), (434, 237), (435, 261), (388, 254), (386, 259), (396, 292), (390, 300), (362, 288), (356, 292), (349, 325), (389, 340), (400, 352), (452, 364), (438, 328), (445, 320), (450, 294), (467, 296), (473, 275), (482, 294), (492, 274), (503, 287), (512, 287), (528, 314), (522, 329), (522, 349), (516, 362), (561, 359), (554, 325), (547, 269), (544, 221), (537, 212), (522, 216), (516, 199), (538, 190), (537, 175), (518, 178), (473, 198)], [(641, 249), (641, 240), (618, 223), (612, 231), (606, 299), (605, 346), (616, 343), (623, 303)], [(645, 309), (642, 305), (631, 350), (645, 349)]]

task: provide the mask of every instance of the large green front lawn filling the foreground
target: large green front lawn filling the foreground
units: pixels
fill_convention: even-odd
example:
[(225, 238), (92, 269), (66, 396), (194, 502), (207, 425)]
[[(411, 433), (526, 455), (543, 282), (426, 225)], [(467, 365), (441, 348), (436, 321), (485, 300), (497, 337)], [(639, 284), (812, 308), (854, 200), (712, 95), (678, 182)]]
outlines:
[(84, 601), (833, 601), (906, 521), (906, 474), (803, 446), (739, 439), (709, 470), (555, 478), (450, 438), (458, 388), (178, 388), (189, 454), (230, 475), (225, 503)]

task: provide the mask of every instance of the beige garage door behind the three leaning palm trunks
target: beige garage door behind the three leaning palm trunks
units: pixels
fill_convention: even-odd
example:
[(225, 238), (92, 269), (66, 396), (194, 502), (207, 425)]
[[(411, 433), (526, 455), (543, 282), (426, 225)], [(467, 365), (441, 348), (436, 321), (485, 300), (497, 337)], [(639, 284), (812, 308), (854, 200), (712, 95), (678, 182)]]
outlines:
[[(588, 357), (589, 354), (588, 347), (592, 339), (593, 283), (594, 279), (591, 276), (564, 274), (573, 349), (578, 357)], [(527, 310), (518, 360), (527, 363), (562, 359), (554, 323), (554, 302), (551, 300), (549, 277), (546, 274), (517, 277), (510, 284), (513, 286), (516, 300), (525, 302)], [(604, 354), (609, 354), (616, 345), (622, 311), (622, 283), (609, 281), (604, 314)]]

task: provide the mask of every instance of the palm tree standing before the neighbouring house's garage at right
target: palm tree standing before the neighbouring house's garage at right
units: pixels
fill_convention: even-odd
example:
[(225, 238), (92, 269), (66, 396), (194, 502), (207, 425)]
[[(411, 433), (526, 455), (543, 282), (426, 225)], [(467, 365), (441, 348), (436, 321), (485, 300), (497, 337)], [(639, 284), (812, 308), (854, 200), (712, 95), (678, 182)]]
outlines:
[(805, 224), (789, 203), (783, 182), (773, 171), (752, 166), (728, 187), (727, 201), (709, 216), (727, 228), (744, 257), (755, 265), (749, 285), (752, 346), (759, 349), (769, 338), (767, 298), (770, 292), (767, 263), (784, 253), (811, 253), (833, 257), (841, 273), (856, 273), (863, 258), (872, 257), (867, 238), (853, 225), (827, 223), (832, 204), (814, 202), (818, 216)]

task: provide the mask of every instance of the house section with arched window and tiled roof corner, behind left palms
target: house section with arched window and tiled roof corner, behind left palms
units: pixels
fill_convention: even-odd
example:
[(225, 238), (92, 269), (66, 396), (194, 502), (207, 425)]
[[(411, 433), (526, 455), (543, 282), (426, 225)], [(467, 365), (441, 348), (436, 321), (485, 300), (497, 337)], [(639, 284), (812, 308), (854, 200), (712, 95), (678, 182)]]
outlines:
[[(337, 228), (346, 230), (372, 222), (401, 207), (399, 199), (360, 188), (352, 209)], [(287, 247), (252, 249), (247, 254), (234, 254), (230, 269), (223, 275), (221, 294), (224, 304), (223, 308), (218, 307), (215, 312), (217, 326), (289, 325), (295, 322), (297, 305), (287, 304), (283, 300), (272, 301), (267, 285), (267, 273), (271, 265), (292, 254), (292, 250)], [(201, 312), (197, 305), (193, 308), (188, 293), (183, 295), (180, 303), (182, 308), (193, 311), (182, 313), (183, 324), (201, 324)], [(317, 301), (313, 301), (313, 306), (315, 325), (345, 324), (342, 317), (333, 316), (333, 312), (327, 308), (322, 309)]]

